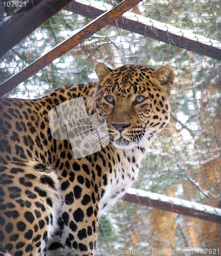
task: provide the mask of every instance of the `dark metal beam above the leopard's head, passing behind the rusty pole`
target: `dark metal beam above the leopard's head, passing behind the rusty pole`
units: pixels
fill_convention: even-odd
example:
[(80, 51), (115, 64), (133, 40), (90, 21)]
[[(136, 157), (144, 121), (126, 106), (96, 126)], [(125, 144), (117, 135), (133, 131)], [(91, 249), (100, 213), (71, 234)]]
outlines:
[[(65, 7), (65, 9), (89, 18), (96, 18), (97, 15), (101, 15), (104, 12), (102, 10), (99, 10), (98, 8), (80, 4), (77, 2), (70, 3), (67, 7)], [(215, 48), (200, 41), (176, 35), (174, 33), (170, 33), (169, 31), (165, 31), (154, 26), (148, 26), (144, 23), (129, 18), (120, 17), (115, 20), (114, 23), (111, 23), (111, 25), (152, 39), (166, 42), (167, 44), (176, 47), (187, 49), (188, 51), (221, 60), (220, 48)]]

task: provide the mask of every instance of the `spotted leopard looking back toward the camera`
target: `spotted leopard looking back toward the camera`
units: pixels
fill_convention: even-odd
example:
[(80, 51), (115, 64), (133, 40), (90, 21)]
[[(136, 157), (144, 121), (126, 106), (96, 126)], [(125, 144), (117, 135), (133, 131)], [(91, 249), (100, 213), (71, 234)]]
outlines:
[[(95, 255), (100, 216), (137, 180), (154, 136), (169, 123), (170, 66), (98, 62), (95, 73), (97, 82), (38, 99), (1, 98), (1, 255)], [(71, 133), (64, 139), (58, 129), (55, 138), (49, 114), (60, 105), (70, 111), (62, 104), (80, 97), (79, 113), (85, 106), (88, 117), (104, 118), (107, 143), (95, 136), (99, 150), (76, 157)]]

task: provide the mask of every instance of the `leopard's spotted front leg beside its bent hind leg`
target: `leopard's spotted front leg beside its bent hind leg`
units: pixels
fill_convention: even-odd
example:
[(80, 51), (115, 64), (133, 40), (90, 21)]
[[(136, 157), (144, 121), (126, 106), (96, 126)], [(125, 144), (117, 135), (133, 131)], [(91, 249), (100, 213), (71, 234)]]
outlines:
[[(75, 179), (74, 179), (75, 178)], [(70, 180), (73, 183), (70, 182)], [(56, 236), (46, 255), (95, 255), (98, 230), (99, 189), (96, 183), (72, 173), (61, 183), (63, 210)]]

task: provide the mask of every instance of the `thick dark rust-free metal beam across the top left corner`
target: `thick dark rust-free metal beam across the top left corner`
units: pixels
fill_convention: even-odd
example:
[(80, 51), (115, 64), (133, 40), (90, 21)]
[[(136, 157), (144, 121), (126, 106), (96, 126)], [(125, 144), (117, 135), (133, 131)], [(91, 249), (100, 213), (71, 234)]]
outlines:
[(42, 23), (63, 9), (73, 0), (35, 0), (34, 6), (30, 1), (27, 6), (21, 8), (17, 13), (0, 26), (1, 44), (0, 56), (8, 52), (20, 40), (36, 30)]

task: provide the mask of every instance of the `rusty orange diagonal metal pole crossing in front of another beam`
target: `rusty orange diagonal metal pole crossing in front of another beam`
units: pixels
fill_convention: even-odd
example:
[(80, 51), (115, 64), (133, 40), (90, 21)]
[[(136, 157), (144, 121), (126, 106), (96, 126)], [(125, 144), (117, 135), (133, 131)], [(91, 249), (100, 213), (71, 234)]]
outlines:
[(114, 20), (119, 18), (124, 12), (130, 10), (141, 1), (142, 0), (124, 0), (120, 4), (113, 7), (111, 10), (106, 11), (105, 13), (98, 16), (95, 20), (90, 22), (79, 32), (64, 40), (56, 47), (54, 47), (50, 52), (46, 53), (31, 63), (27, 68), (21, 70), (16, 75), (3, 82), (0, 86), (0, 96), (5, 95), (10, 90), (14, 89), (19, 83), (25, 81), (30, 76), (36, 74), (38, 71), (48, 66), (53, 60), (76, 47), (82, 41), (89, 38), (109, 23), (114, 22)]

